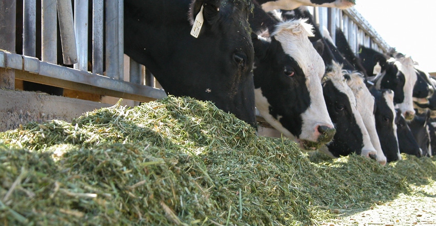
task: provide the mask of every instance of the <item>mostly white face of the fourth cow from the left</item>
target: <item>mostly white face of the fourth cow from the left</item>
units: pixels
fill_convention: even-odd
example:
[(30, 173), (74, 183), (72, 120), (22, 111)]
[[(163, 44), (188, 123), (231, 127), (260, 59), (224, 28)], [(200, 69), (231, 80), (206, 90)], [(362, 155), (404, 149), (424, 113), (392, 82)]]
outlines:
[(372, 145), (377, 151), (376, 161), (382, 165), (385, 165), (387, 161), (386, 156), (383, 153), (379, 135), (375, 128), (375, 117), (373, 114), (375, 102), (374, 97), (366, 87), (362, 74), (354, 72), (350, 73), (349, 75), (351, 79), (347, 80), (347, 84), (354, 94), (357, 109), (362, 117), (366, 129), (368, 130)]

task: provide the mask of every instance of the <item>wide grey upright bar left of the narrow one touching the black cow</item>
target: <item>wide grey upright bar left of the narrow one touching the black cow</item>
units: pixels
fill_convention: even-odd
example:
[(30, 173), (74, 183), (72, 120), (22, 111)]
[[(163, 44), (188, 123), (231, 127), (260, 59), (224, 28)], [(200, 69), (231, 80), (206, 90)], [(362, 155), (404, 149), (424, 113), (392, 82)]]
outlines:
[(118, 56), (118, 0), (107, 0), (106, 12), (106, 75), (118, 79), (118, 67), (120, 57)]

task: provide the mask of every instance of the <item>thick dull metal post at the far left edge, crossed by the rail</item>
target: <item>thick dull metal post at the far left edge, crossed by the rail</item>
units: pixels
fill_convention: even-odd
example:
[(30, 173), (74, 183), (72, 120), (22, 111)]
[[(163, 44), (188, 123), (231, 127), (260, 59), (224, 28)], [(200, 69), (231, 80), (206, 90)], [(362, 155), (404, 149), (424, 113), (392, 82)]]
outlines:
[[(0, 1), (0, 12), (0, 49), (15, 53), (16, 1)], [(15, 88), (13, 69), (0, 67), (0, 88)]]

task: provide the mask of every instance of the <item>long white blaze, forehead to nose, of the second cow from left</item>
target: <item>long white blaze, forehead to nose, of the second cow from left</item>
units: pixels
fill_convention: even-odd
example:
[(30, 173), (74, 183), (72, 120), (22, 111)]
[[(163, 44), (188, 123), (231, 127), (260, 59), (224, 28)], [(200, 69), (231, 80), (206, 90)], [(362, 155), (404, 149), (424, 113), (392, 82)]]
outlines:
[(319, 137), (317, 126), (333, 128), (323, 97), (321, 79), (325, 72), (324, 61), (316, 52), (308, 36), (313, 36), (312, 26), (306, 19), (289, 20), (276, 25), (272, 34), (278, 40), (284, 52), (299, 64), (306, 76), (306, 86), (311, 103), (301, 115), (303, 120), (301, 140), (316, 141)]

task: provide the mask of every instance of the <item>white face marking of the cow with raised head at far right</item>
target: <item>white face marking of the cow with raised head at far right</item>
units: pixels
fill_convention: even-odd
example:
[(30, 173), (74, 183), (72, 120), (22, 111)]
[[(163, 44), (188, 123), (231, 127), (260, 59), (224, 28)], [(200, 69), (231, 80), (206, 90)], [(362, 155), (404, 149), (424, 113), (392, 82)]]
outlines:
[(404, 84), (404, 101), (403, 103), (397, 104), (397, 107), (400, 108), (402, 114), (406, 114), (406, 112), (414, 112), (413, 109), (413, 86), (418, 80), (417, 73), (414, 70), (413, 60), (410, 56), (405, 56), (401, 58), (390, 58), (388, 61), (393, 61), (394, 65), (397, 65), (398, 70), (404, 74), (405, 84)]

